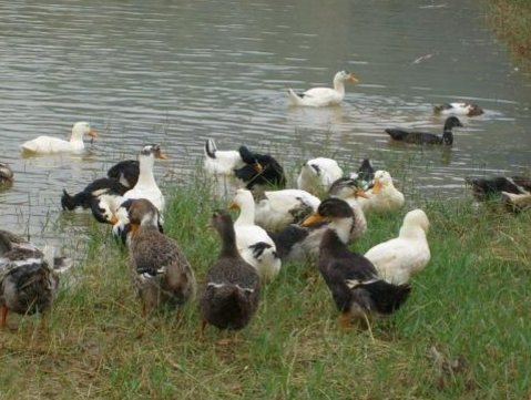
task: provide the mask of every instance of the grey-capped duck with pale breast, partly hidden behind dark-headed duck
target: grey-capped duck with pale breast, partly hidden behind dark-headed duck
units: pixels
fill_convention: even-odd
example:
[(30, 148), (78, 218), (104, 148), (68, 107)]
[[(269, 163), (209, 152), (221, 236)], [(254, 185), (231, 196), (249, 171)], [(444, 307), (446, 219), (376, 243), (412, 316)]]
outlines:
[(348, 243), (356, 243), (367, 232), (367, 219), (364, 209), (359, 204), (359, 198), (369, 198), (369, 196), (358, 187), (358, 181), (351, 177), (340, 177), (334, 182), (328, 189), (328, 198), (340, 198), (345, 201), (354, 212), (354, 226), (350, 229)]

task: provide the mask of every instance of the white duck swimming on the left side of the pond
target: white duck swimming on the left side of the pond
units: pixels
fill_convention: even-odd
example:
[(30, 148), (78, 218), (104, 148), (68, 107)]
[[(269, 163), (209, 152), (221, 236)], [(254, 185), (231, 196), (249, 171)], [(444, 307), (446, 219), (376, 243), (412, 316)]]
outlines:
[(76, 122), (69, 141), (53, 136), (39, 136), (23, 143), (20, 148), (33, 154), (80, 153), (84, 150), (84, 135), (95, 137), (96, 133), (89, 122)]

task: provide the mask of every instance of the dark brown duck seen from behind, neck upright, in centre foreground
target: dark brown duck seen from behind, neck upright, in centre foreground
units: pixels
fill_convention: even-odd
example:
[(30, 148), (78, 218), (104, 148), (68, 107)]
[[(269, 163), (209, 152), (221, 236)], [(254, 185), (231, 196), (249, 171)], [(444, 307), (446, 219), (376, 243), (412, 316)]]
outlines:
[(214, 212), (210, 226), (219, 234), (222, 249), (203, 283), (200, 295), (202, 335), (207, 325), (239, 330), (247, 326), (258, 308), (261, 277), (238, 253), (231, 215)]

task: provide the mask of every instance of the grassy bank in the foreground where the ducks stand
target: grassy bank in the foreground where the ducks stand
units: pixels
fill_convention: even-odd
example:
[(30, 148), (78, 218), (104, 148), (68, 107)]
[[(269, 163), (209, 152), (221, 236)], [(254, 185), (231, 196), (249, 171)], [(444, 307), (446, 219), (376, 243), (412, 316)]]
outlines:
[[(201, 178), (184, 181), (166, 194), (165, 229), (201, 281), (218, 249), (204, 225), (221, 204)], [(145, 319), (126, 253), (94, 224), (86, 263), (63, 285), (49, 331), (13, 317), (0, 332), (0, 398), (529, 399), (531, 213), (426, 199), (406, 186), (408, 208), (430, 217), (432, 260), (372, 337), (339, 332), (312, 264), (284, 265), (237, 336), (212, 328), (201, 340), (195, 302)], [(353, 248), (396, 236), (405, 213), (369, 216)]]

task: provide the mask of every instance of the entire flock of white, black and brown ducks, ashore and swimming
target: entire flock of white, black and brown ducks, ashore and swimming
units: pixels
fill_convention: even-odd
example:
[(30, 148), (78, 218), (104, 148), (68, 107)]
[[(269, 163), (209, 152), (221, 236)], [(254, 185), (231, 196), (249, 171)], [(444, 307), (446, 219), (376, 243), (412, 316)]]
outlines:
[[(357, 82), (347, 72), (334, 78), (334, 89), (316, 88), (297, 94), (293, 104), (335, 105), (345, 96), (345, 82)], [(474, 104), (451, 103), (435, 109), (441, 114), (479, 115)], [(449, 116), (442, 137), (430, 133), (387, 130), (394, 140), (416, 144), (453, 142), (452, 129), (462, 126)], [(83, 137), (96, 134), (86, 122), (76, 123), (69, 141), (40, 136), (21, 145), (24, 152), (53, 154), (80, 152)], [(255, 315), (263, 285), (275, 279), (288, 260), (310, 260), (330, 290), (345, 330), (353, 318), (368, 324), (372, 315), (399, 309), (410, 291), (410, 278), (430, 261), (427, 240), (429, 219), (422, 209), (406, 214), (396, 238), (380, 243), (365, 255), (348, 246), (367, 232), (367, 213), (379, 215), (404, 208), (405, 196), (387, 171), (375, 171), (368, 158), (349, 174), (331, 158), (308, 160), (286, 188), (282, 165), (269, 154), (246, 146), (219, 151), (213, 140), (204, 144), (204, 172), (215, 183), (214, 195), (232, 196), (228, 208), (239, 209), (233, 222), (224, 209), (214, 211), (210, 226), (221, 239), (217, 260), (211, 266), (200, 291), (193, 266), (180, 245), (164, 234), (165, 199), (153, 173), (155, 160), (166, 155), (156, 144), (140, 150), (137, 160), (112, 166), (106, 177), (83, 191), (61, 196), (65, 211), (90, 209), (95, 220), (112, 225), (113, 234), (129, 248), (129, 269), (134, 290), (147, 315), (159, 307), (180, 307), (198, 296), (202, 332), (208, 325), (242, 329)], [(12, 172), (0, 164), (2, 180)], [(518, 206), (530, 205), (531, 180), (523, 177), (470, 180), (474, 196), (501, 193)], [(53, 248), (38, 249), (23, 238), (0, 230), (1, 327), (9, 311), (45, 312), (55, 297), (61, 273), (71, 260), (54, 257)]]

